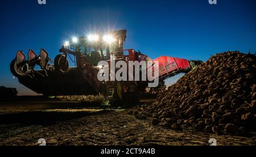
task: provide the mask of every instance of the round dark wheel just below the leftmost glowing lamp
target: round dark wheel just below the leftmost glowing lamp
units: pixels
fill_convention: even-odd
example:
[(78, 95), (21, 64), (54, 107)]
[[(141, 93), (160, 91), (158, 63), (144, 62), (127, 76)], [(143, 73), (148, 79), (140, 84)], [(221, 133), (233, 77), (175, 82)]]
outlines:
[(67, 73), (69, 69), (69, 63), (64, 55), (57, 55), (54, 60), (55, 71), (59, 73)]

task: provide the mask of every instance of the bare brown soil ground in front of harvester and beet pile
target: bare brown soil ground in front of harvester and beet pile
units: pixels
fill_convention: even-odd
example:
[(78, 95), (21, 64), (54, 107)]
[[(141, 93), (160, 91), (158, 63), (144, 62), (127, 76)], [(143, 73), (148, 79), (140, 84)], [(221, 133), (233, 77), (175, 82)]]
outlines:
[(152, 126), (151, 119), (139, 120), (127, 112), (134, 109), (102, 108), (77, 102), (0, 102), (0, 145), (156, 146), (255, 145), (250, 137), (175, 131)]

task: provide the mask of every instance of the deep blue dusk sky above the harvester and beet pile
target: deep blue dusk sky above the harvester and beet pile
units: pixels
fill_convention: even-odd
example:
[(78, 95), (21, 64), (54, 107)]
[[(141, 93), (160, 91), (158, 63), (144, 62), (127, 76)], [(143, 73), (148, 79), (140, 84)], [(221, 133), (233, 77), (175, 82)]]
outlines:
[(256, 1), (129, 0), (85, 1), (0, 0), (0, 86), (16, 87), (9, 65), (19, 49), (37, 53), (44, 47), (51, 58), (69, 36), (126, 28), (126, 48), (152, 59), (175, 56), (208, 60), (217, 52), (256, 51)]

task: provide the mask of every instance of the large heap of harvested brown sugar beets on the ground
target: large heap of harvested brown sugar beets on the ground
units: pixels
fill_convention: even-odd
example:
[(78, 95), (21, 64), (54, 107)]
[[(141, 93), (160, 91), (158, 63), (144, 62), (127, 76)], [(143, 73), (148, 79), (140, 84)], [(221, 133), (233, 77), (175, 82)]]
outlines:
[(218, 53), (133, 114), (152, 125), (205, 133), (256, 131), (256, 57)]

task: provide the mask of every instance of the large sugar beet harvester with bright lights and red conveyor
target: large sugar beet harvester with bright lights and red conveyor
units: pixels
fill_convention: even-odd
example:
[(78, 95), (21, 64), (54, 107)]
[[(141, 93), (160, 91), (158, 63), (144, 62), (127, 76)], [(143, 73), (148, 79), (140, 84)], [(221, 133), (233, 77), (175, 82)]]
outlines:
[[(82, 36), (65, 42), (60, 55), (52, 61), (42, 48), (40, 55), (30, 49), (28, 60), (22, 51), (16, 53), (10, 69), (19, 82), (44, 96), (98, 95), (108, 97), (112, 102), (125, 104), (139, 100), (139, 94), (147, 88), (147, 81), (99, 81), (97, 67), (99, 61), (143, 61), (150, 60), (134, 49), (123, 49), (126, 30), (113, 31), (100, 38), (97, 35)], [(126, 54), (127, 53), (127, 54)], [(71, 55), (75, 56), (72, 60)], [(69, 66), (72, 60), (75, 67)], [(159, 61), (159, 80), (178, 73), (191, 71), (200, 61), (188, 61), (175, 57), (162, 56)], [(39, 65), (40, 70), (35, 70)], [(118, 69), (116, 69), (118, 70)]]

